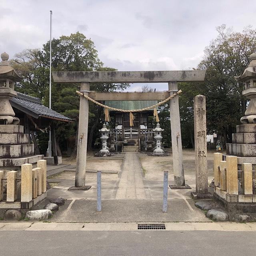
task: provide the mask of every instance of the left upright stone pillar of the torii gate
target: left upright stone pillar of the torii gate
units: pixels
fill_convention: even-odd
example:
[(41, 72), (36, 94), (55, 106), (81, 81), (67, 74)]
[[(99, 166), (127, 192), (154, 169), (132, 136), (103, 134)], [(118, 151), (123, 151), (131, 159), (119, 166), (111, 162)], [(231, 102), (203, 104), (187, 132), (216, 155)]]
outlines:
[[(84, 93), (85, 95), (88, 95), (89, 90), (89, 83), (81, 83), (80, 92)], [(80, 96), (75, 187), (85, 186), (88, 115), (89, 102), (86, 98)]]

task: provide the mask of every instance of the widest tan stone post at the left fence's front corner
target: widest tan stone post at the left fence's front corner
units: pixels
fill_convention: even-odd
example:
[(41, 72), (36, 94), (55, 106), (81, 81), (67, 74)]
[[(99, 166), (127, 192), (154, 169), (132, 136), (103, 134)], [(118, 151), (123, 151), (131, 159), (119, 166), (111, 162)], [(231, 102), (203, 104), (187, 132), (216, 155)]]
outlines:
[(32, 200), (32, 164), (21, 166), (21, 202)]

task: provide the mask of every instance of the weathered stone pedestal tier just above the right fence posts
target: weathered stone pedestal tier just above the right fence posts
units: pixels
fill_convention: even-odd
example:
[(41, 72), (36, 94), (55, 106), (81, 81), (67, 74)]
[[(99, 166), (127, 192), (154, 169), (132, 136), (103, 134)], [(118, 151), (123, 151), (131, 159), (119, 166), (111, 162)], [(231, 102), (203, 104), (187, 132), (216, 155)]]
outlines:
[(242, 157), (256, 156), (256, 144), (227, 143), (226, 148), (228, 155)]

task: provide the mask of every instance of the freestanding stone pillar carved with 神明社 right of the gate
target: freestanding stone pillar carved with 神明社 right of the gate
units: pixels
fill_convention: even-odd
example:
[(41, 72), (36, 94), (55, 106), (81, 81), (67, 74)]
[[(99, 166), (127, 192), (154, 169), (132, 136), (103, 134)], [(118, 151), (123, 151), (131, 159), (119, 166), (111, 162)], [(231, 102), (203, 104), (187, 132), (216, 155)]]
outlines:
[(196, 193), (208, 194), (205, 96), (194, 97)]

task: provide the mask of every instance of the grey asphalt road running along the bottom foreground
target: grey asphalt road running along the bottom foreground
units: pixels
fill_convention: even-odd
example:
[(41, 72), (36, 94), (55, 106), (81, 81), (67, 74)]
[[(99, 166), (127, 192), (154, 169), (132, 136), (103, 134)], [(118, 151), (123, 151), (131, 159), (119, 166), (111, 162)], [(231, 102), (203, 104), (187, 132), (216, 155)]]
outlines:
[(1, 231), (0, 255), (10, 256), (255, 256), (249, 231)]

